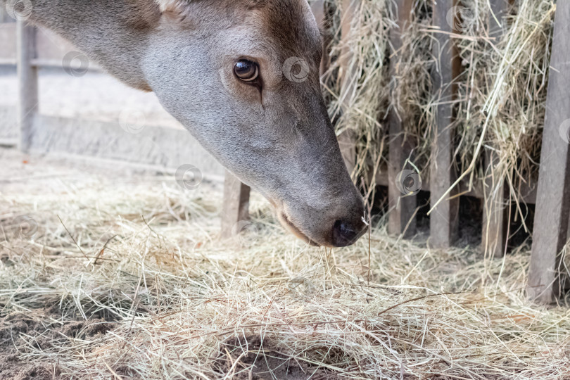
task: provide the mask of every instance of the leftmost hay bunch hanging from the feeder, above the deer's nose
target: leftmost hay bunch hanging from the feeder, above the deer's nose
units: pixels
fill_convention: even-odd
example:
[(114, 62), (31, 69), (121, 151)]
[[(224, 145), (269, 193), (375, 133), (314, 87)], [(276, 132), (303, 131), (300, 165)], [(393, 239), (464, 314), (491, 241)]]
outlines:
[[(329, 23), (331, 62), (323, 82), (337, 134), (348, 130), (357, 141), (358, 157), (352, 173), (357, 177), (384, 153), (380, 121), (386, 117), (390, 82), (386, 30), (393, 27), (393, 21), (387, 17), (386, 1), (363, 1), (350, 20), (341, 18), (341, 5), (338, 1), (329, 9), (333, 13)], [(343, 23), (350, 23), (348, 36), (341, 35)]]

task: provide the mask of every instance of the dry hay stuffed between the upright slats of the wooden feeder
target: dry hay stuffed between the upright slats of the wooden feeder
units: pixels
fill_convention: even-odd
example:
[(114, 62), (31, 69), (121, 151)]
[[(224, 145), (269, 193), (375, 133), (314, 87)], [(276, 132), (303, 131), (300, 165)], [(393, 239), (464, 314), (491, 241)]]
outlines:
[[(414, 1), (412, 15), (403, 30), (398, 56), (388, 39), (397, 11), (391, 0), (359, 1), (350, 36), (342, 40), (342, 0), (330, 0), (330, 70), (325, 91), (338, 132), (352, 129), (357, 135), (358, 163), (355, 175), (374, 163), (387, 160), (388, 110), (404, 120), (407, 137), (417, 145), (412, 162), (422, 177), (429, 177), (434, 113), (440, 99), (431, 91), (436, 67), (431, 26), (432, 1)], [(462, 0), (457, 4), (452, 34), (461, 60), (457, 77), (455, 156), (458, 174), (471, 183), (492, 177), (495, 188), (504, 180), (516, 199), (521, 182), (538, 177), (540, 141), (545, 115), (548, 65), (555, 1), (516, 0), (502, 15), (490, 11), (487, 0)], [(507, 4), (507, 1), (505, 1)], [(502, 29), (493, 28), (500, 19)], [(343, 46), (351, 46), (349, 68), (355, 72), (355, 88), (343, 92)], [(391, 61), (395, 72), (388, 70)], [(448, 100), (445, 100), (448, 101)], [(485, 149), (498, 160), (492, 170), (483, 161)]]

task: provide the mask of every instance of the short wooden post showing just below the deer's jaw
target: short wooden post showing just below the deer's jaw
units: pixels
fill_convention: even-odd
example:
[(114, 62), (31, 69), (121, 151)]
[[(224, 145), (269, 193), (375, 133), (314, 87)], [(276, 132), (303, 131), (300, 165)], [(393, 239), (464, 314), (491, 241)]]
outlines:
[[(249, 219), (250, 187), (226, 170), (224, 179), (224, 204), (222, 205), (222, 238), (234, 234), (234, 226)], [(239, 232), (239, 231), (238, 231)]]

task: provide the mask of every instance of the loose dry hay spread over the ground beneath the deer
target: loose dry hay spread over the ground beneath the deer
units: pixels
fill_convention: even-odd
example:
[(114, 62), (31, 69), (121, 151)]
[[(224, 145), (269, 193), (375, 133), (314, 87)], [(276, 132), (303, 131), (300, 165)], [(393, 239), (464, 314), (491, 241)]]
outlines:
[(528, 248), (483, 262), (373, 229), (329, 251), (262, 201), (220, 241), (220, 197), (94, 176), (0, 194), (0, 378), (570, 379), (570, 309), (525, 300)]

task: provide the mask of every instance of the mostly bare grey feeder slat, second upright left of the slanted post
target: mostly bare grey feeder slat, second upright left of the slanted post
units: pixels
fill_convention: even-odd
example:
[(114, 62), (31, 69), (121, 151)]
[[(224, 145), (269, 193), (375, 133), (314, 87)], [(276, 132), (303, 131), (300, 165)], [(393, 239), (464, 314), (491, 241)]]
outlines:
[(436, 128), (433, 131), (430, 164), (431, 207), (430, 242), (437, 248), (447, 248), (452, 245), (457, 235), (457, 217), (459, 198), (455, 196), (457, 189), (442, 198), (452, 186), (456, 173), (453, 170), (453, 101), (455, 100), (455, 78), (460, 71), (460, 61), (457, 49), (450, 34), (457, 32), (446, 20), (448, 11), (455, 6), (455, 0), (433, 0), (433, 25), (438, 27), (435, 32), (436, 42), (433, 44), (433, 55), (436, 56), (438, 67), (433, 70), (433, 89), (438, 106), (436, 110)]

